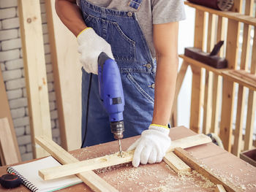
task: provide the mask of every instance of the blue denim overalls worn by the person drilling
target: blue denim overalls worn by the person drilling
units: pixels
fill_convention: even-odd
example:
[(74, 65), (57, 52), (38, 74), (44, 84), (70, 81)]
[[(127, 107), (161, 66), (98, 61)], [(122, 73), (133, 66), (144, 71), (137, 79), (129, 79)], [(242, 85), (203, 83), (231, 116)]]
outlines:
[[(139, 11), (141, 1), (130, 1), (127, 6)], [(80, 9), (86, 26), (94, 28), (111, 45), (120, 69), (125, 99), (124, 138), (139, 135), (148, 128), (153, 116), (156, 61), (152, 58), (136, 13), (99, 7), (86, 0), (80, 1)], [(99, 99), (98, 77), (84, 69), (82, 71), (82, 139), (86, 132), (83, 147), (113, 141), (108, 113)]]

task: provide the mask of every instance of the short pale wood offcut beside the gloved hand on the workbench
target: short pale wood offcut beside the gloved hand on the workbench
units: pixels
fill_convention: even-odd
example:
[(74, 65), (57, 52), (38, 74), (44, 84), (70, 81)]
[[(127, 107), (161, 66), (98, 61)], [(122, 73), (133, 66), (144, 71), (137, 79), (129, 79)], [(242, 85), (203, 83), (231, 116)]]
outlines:
[(173, 152), (166, 153), (163, 158), (165, 163), (169, 165), (176, 173), (179, 172), (191, 172), (191, 168), (184, 163), (177, 155)]

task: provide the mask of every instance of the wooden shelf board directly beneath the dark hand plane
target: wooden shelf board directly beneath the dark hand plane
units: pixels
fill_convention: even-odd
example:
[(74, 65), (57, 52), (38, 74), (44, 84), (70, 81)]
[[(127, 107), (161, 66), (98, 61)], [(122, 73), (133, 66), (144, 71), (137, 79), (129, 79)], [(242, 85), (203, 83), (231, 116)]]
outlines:
[(180, 58), (183, 58), (187, 64), (198, 66), (200, 68), (204, 68), (210, 72), (214, 72), (215, 74), (219, 74), (222, 77), (227, 77), (229, 80), (233, 82), (237, 82), (240, 85), (244, 85), (247, 88), (256, 91), (256, 75), (245, 72), (244, 70), (234, 70), (234, 69), (216, 69), (214, 67), (203, 64), (195, 59), (189, 58), (185, 55), (179, 55)]

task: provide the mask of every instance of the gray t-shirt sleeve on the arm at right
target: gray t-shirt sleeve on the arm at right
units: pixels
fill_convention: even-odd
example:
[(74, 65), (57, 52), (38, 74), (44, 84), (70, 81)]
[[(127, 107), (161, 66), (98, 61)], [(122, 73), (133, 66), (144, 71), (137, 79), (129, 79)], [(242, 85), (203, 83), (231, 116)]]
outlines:
[(184, 0), (152, 0), (153, 24), (186, 19)]

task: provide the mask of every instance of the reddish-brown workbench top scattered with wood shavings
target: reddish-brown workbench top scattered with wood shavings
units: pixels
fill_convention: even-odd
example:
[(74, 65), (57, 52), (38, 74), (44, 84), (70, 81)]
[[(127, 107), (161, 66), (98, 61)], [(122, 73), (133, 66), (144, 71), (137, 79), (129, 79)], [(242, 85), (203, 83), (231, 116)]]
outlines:
[[(185, 127), (170, 129), (170, 137), (173, 140), (194, 134)], [(122, 146), (124, 150), (137, 138), (123, 139)], [(70, 153), (81, 161), (116, 153), (116, 151), (118, 151), (117, 141), (74, 150)], [(202, 166), (211, 169), (212, 172), (218, 174), (224, 180), (230, 180), (243, 191), (256, 191), (256, 168), (254, 166), (212, 143), (190, 147), (187, 151), (197, 158)], [(6, 174), (6, 169), (7, 166), (1, 166), (0, 174)], [(138, 168), (133, 168), (132, 164), (122, 164), (95, 172), (119, 191), (214, 191), (215, 188), (213, 183), (201, 177), (195, 171), (177, 175), (165, 162), (147, 164), (146, 166), (140, 165)], [(4, 190), (0, 186), (0, 191), (22, 192), (29, 190), (22, 185), (12, 190)], [(84, 183), (80, 183), (61, 191), (91, 190)]]

